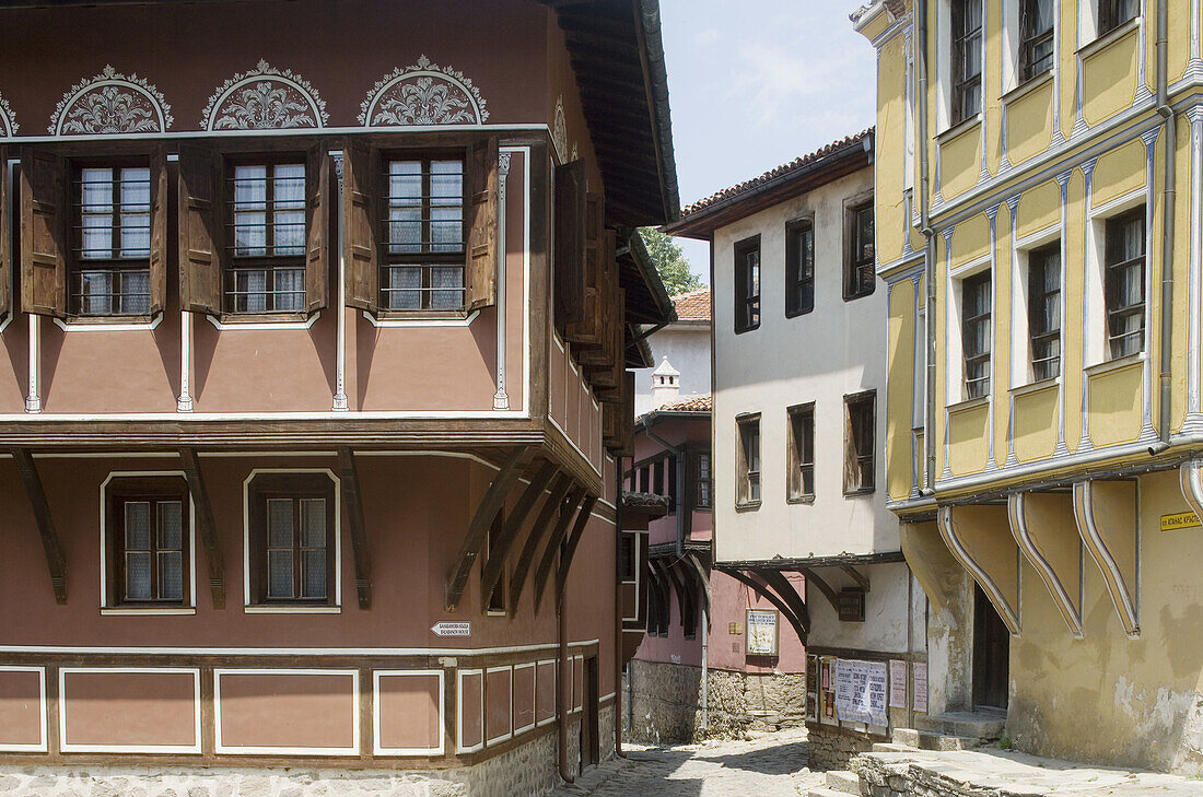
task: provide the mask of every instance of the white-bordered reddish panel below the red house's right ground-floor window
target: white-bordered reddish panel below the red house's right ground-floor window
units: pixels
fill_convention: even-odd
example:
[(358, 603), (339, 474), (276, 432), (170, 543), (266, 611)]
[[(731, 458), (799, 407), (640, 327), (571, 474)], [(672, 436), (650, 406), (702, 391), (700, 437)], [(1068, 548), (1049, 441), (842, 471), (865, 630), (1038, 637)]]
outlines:
[(215, 670), (217, 751), (358, 755), (356, 670)]

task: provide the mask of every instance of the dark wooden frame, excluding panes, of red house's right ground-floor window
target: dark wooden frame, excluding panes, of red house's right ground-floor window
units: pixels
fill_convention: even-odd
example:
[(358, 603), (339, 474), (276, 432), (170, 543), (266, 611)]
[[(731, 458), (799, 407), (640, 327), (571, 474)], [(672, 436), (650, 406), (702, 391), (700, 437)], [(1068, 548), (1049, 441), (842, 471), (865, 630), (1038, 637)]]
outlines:
[[(261, 472), (256, 474), (248, 486), (248, 540), (250, 591), (247, 595), (248, 606), (339, 606), (336, 591), (338, 579), (338, 511), (334, 481), (326, 472)], [(292, 499), (294, 505), (304, 499), (324, 499), (326, 501), (326, 594), (321, 597), (268, 597), (267, 571), (267, 501), (269, 499)], [(294, 591), (301, 584), (296, 581), (301, 557), (296, 555), (298, 543), (300, 513), (294, 510)]]

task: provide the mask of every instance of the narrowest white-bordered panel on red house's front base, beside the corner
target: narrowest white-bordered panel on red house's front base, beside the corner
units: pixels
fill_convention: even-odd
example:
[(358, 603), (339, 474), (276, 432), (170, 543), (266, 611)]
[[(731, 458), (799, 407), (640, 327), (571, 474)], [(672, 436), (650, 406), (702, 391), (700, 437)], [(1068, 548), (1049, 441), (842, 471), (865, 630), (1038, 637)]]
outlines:
[(442, 670), (377, 670), (377, 755), (443, 755)]

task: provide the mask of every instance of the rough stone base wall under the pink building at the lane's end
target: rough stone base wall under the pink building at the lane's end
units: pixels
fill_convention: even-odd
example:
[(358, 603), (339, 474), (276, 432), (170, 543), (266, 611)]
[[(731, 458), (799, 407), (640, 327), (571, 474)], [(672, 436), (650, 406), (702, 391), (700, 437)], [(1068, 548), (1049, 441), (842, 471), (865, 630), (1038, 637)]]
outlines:
[(805, 676), (711, 670), (707, 680), (710, 725), (704, 727), (700, 667), (633, 660), (623, 680), (622, 700), (630, 706), (624, 738), (648, 744), (742, 738), (748, 731), (799, 727), (805, 721)]

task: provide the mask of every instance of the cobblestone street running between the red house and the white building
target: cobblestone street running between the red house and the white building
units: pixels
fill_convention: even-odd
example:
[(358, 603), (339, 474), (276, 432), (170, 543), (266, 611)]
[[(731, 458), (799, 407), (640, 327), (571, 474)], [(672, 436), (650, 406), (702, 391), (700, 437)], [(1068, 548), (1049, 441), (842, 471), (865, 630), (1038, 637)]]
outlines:
[(589, 772), (552, 792), (553, 797), (796, 797), (823, 783), (822, 773), (805, 769), (806, 734), (801, 731), (751, 742), (626, 749), (626, 761)]

